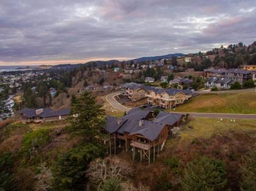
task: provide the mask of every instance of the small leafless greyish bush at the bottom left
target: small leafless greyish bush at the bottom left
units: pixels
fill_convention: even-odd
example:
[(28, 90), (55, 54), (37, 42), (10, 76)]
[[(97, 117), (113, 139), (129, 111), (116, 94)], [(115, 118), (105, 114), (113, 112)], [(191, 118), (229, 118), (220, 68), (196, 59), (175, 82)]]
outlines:
[(40, 170), (40, 173), (36, 176), (37, 182), (35, 184), (35, 190), (37, 191), (46, 191), (50, 190), (51, 186), (51, 180), (52, 180), (52, 172), (47, 167), (46, 163), (40, 164), (38, 167), (38, 170)]

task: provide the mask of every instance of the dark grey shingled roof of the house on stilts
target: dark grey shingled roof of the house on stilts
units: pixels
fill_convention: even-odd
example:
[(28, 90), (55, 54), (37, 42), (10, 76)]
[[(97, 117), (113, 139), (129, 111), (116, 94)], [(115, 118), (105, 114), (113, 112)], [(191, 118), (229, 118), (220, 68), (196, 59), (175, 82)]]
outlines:
[[(160, 111), (155, 119), (145, 120), (148, 116), (149, 111), (134, 111), (131, 114), (127, 114), (127, 116), (121, 117), (119, 120), (121, 122), (118, 124), (117, 117), (106, 118), (106, 127), (109, 133), (129, 133), (133, 134), (141, 134), (142, 136), (148, 138), (151, 141), (157, 139), (165, 125), (174, 125), (174, 123), (178, 122), (180, 118), (183, 116), (182, 114), (174, 114), (174, 113), (166, 113)], [(143, 120), (143, 125), (139, 125), (140, 120)]]

